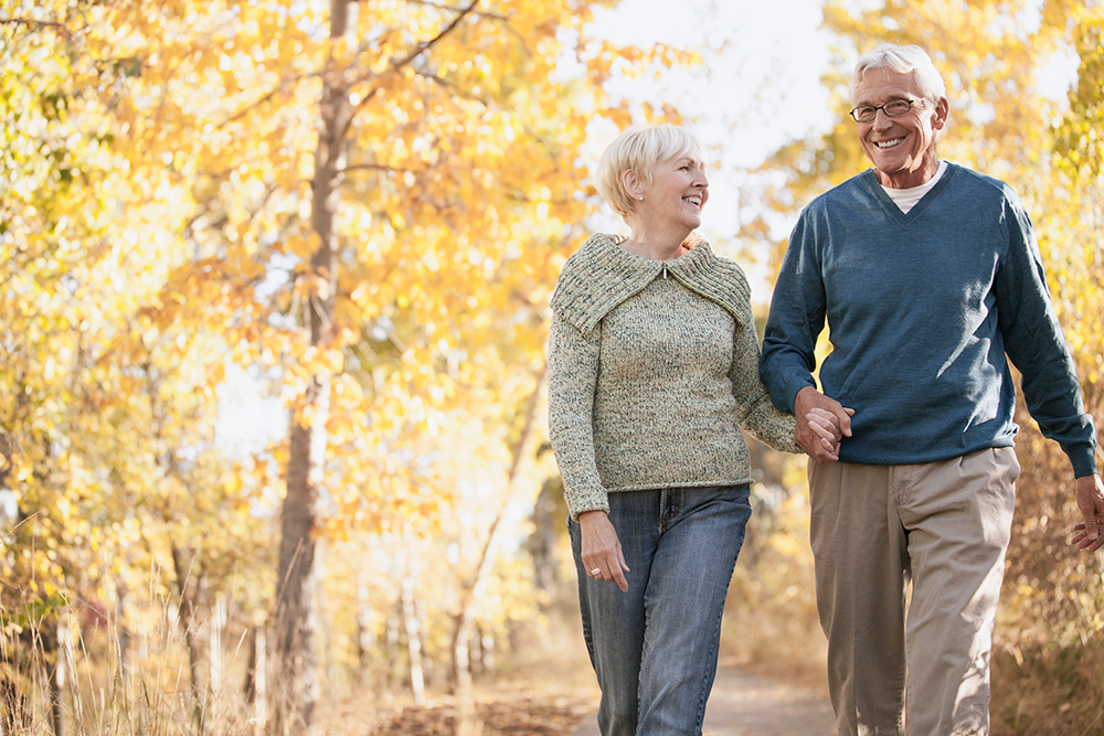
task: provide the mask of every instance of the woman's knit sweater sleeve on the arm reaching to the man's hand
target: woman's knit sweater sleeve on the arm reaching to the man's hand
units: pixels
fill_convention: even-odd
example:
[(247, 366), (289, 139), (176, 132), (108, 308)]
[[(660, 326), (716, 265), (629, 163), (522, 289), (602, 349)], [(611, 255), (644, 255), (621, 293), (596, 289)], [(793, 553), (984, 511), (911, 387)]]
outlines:
[(758, 337), (751, 307), (741, 305), (744, 313), (732, 337), (732, 367), (729, 378), (736, 398), (736, 420), (755, 439), (784, 452), (800, 454), (794, 442), (794, 415), (783, 414), (771, 403), (771, 395), (760, 378)]

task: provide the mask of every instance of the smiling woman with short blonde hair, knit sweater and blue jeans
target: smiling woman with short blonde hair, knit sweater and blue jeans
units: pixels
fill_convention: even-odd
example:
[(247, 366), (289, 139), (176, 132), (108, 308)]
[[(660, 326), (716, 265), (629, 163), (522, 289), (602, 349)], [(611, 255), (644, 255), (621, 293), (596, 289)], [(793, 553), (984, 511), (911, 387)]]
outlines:
[[(604, 736), (701, 733), (751, 516), (740, 430), (800, 451), (760, 380), (747, 280), (693, 232), (708, 185), (686, 129), (624, 131), (597, 186), (630, 234), (588, 238), (552, 297), (550, 438)], [(829, 417), (810, 418), (835, 457)]]

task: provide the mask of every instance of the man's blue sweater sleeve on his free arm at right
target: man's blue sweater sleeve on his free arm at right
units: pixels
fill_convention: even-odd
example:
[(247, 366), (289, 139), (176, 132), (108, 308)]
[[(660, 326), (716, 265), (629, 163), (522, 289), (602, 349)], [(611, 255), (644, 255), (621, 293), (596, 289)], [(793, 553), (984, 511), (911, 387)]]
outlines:
[(1061, 445), (1075, 477), (1091, 476), (1096, 472), (1096, 429), (1050, 300), (1031, 221), (1010, 193), (1005, 226), (1008, 250), (995, 284), (1005, 352), (1022, 376), (1028, 412), (1043, 436)]

